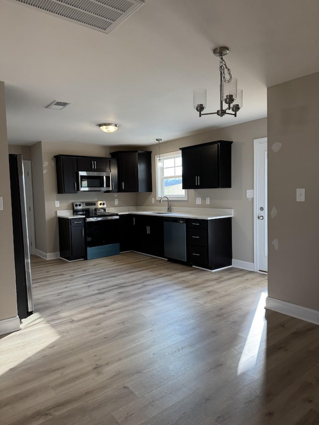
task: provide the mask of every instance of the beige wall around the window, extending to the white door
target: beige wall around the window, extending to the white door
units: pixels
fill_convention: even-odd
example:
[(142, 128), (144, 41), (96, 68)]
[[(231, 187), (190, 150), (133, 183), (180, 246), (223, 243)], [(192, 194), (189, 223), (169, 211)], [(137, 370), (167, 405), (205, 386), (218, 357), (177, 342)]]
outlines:
[[(202, 117), (202, 120), (214, 119)], [(215, 117), (216, 119), (216, 117)], [(254, 188), (254, 139), (267, 136), (267, 119), (237, 124), (187, 138), (160, 143), (160, 152), (172, 152), (179, 147), (193, 144), (229, 140), (232, 144), (232, 187), (229, 189), (188, 190), (187, 201), (172, 201), (174, 207), (234, 208), (233, 218), (233, 259), (253, 263), (253, 202), (246, 198), (246, 189)], [(149, 146), (153, 160), (153, 192), (138, 195), (138, 204), (151, 206), (152, 197), (156, 199), (155, 155), (159, 152), (157, 144)], [(202, 204), (196, 205), (195, 198), (201, 197)], [(210, 204), (205, 204), (205, 198)], [(156, 205), (160, 205), (156, 201)]]

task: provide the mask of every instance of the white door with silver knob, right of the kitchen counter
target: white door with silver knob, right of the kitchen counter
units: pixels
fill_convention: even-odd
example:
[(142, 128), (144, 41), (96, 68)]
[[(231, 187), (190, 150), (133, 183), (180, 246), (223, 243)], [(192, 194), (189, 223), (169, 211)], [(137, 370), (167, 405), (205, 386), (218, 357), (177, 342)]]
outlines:
[(268, 271), (268, 216), (267, 216), (267, 139), (254, 141), (255, 202), (254, 242), (255, 271)]

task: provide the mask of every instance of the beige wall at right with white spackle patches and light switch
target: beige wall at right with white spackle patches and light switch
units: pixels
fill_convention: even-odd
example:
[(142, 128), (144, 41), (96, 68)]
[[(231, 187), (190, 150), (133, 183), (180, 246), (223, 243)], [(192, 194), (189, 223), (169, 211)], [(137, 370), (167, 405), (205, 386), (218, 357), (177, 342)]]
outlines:
[[(315, 310), (319, 310), (318, 99), (319, 73), (268, 89), (268, 294)], [(277, 152), (280, 145), (275, 143), (281, 143)], [(305, 202), (296, 202), (297, 188), (306, 189)], [(277, 214), (271, 218), (274, 207)]]

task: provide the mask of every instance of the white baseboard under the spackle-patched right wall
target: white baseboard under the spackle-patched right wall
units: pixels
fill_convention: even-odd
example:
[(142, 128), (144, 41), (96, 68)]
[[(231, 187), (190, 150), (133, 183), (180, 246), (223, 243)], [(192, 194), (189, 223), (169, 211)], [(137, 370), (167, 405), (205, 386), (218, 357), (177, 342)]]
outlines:
[(319, 325), (319, 311), (312, 308), (303, 307), (302, 305), (269, 296), (266, 298), (266, 308)]

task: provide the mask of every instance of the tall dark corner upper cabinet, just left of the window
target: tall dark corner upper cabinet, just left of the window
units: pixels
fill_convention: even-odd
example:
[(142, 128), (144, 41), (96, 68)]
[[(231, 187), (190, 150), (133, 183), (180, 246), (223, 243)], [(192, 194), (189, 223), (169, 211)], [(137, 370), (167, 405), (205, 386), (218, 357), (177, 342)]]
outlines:
[(111, 152), (118, 161), (118, 192), (152, 192), (151, 154), (148, 150)]

